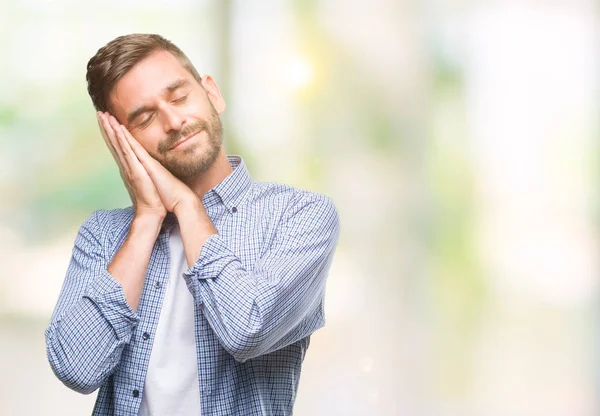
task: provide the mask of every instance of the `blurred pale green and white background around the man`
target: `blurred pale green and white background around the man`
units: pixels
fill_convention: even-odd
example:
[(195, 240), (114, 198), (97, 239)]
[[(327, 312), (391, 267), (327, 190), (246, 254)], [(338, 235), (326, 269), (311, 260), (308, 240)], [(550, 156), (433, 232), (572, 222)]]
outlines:
[(254, 179), (339, 209), (295, 414), (600, 413), (598, 23), (590, 0), (0, 1), (0, 413), (91, 413), (43, 331), (83, 220), (129, 204), (85, 68), (132, 32), (215, 78)]

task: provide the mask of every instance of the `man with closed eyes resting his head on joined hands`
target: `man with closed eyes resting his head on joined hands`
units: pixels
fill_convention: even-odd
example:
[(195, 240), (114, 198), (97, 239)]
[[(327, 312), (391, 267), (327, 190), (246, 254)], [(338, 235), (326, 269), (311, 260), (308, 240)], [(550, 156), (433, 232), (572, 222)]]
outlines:
[(48, 359), (94, 415), (289, 415), (324, 324), (339, 220), (325, 196), (254, 182), (222, 147), (225, 101), (158, 35), (87, 67), (133, 206), (81, 226), (46, 330)]

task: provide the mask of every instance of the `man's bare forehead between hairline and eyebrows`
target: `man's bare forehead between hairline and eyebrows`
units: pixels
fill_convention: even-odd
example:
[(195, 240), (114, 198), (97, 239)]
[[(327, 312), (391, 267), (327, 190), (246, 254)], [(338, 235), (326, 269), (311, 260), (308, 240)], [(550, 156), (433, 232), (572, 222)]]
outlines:
[(194, 80), (175, 56), (157, 51), (138, 62), (115, 84), (109, 102), (114, 112), (128, 111), (140, 104), (152, 103), (165, 87), (181, 78)]

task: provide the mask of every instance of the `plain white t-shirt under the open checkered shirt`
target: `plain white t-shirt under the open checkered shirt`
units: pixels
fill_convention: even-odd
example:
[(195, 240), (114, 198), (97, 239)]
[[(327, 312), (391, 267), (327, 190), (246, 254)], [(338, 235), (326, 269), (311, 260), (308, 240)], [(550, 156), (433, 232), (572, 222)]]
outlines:
[(181, 276), (188, 267), (178, 225), (171, 229), (169, 250), (170, 275), (139, 416), (200, 415), (194, 302)]

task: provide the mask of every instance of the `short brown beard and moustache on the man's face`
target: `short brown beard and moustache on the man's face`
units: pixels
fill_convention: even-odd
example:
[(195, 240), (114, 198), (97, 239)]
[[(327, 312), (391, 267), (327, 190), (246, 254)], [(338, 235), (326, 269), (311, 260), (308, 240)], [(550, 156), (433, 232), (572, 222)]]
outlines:
[[(185, 149), (171, 152), (169, 149), (178, 141), (191, 134), (206, 133), (207, 140), (188, 145)], [(191, 140), (197, 139), (194, 137)], [(165, 140), (158, 144), (155, 157), (169, 172), (180, 180), (187, 180), (203, 174), (215, 163), (223, 143), (223, 126), (219, 114), (211, 108), (208, 120), (198, 120), (179, 131), (172, 131)]]

